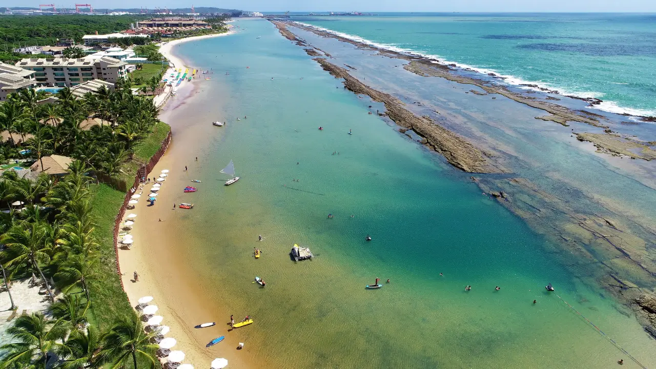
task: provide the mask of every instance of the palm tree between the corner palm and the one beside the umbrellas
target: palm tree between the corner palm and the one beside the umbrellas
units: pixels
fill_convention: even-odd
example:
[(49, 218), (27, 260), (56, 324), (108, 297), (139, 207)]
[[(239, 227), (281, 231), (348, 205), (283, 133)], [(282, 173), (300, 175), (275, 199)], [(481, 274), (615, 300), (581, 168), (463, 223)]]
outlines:
[(87, 369), (96, 368), (96, 357), (100, 351), (100, 337), (98, 331), (88, 326), (83, 331), (75, 331), (64, 343), (62, 350), (62, 369)]

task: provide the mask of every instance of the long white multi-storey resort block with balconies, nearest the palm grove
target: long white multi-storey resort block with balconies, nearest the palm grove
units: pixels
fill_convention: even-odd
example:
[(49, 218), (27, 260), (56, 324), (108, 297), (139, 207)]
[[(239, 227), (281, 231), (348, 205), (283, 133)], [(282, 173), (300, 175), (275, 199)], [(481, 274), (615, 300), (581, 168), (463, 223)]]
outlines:
[(92, 79), (116, 83), (127, 74), (127, 63), (109, 56), (26, 58), (16, 66), (34, 71), (37, 82), (48, 87), (72, 87)]

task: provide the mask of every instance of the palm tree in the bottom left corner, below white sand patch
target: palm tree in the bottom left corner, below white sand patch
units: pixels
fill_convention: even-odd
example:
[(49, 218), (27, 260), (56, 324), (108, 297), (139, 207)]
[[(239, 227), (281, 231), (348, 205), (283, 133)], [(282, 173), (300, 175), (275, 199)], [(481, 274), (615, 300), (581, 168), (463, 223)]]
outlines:
[(0, 347), (7, 351), (0, 359), (0, 369), (45, 368), (48, 353), (58, 351), (61, 344), (56, 341), (66, 336), (63, 326), (41, 313), (19, 316), (7, 333), (15, 342)]

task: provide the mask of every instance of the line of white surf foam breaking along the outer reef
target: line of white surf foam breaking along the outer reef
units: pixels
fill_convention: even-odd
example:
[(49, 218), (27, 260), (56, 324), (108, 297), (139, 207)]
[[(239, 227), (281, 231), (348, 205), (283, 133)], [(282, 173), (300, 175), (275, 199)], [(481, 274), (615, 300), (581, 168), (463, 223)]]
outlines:
[[(528, 86), (522, 86), (522, 85), (537, 85), (538, 88), (542, 89), (549, 89), (551, 91), (558, 91), (560, 95), (571, 95), (575, 97), (581, 97), (581, 98), (602, 98), (604, 97), (604, 93), (600, 92), (595, 92), (595, 91), (568, 91), (567, 89), (563, 89), (562, 87), (554, 87), (552, 85), (549, 85), (548, 83), (544, 83), (542, 81), (525, 81), (524, 79), (521, 79), (520, 77), (516, 76), (511, 76), (507, 74), (501, 74), (495, 70), (492, 69), (487, 69), (487, 68), (482, 68), (482, 67), (477, 67), (477, 66), (470, 66), (467, 64), (459, 63), (459, 62), (450, 62), (449, 60), (445, 60), (440, 55), (435, 55), (435, 54), (425, 54), (421, 53), (415, 50), (411, 49), (404, 49), (402, 47), (398, 47), (395, 45), (386, 45), (384, 43), (377, 43), (375, 41), (371, 41), (369, 39), (365, 39), (363, 37), (360, 37), (358, 35), (350, 35), (348, 33), (344, 32), (338, 32), (335, 30), (329, 30), (328, 28), (323, 28), (319, 26), (314, 26), (314, 24), (307, 24), (303, 22), (296, 22), (298, 24), (302, 24), (303, 26), (309, 27), (309, 28), (314, 28), (315, 30), (331, 33), (333, 35), (337, 35), (339, 37), (344, 37), (345, 39), (350, 39), (352, 41), (356, 41), (358, 43), (363, 43), (365, 45), (370, 45), (372, 47), (376, 47), (377, 49), (384, 49), (384, 50), (389, 50), (389, 51), (394, 51), (396, 53), (402, 53), (410, 56), (419, 56), (422, 58), (428, 58), (431, 59), (431, 63), (433, 64), (442, 64), (442, 65), (455, 65), (457, 68), (461, 68), (463, 70), (468, 70), (471, 72), (476, 72), (480, 74), (485, 74), (486, 76), (489, 74), (495, 74), (495, 76), (502, 77), (502, 83), (506, 83), (508, 85), (513, 85), (514, 87), (520, 87), (522, 89), (531, 89), (533, 87), (528, 87)], [(617, 83), (617, 84), (626, 84), (626, 83)], [(626, 108), (624, 106), (619, 106), (616, 102), (614, 101), (604, 101), (601, 104), (594, 105), (595, 109), (598, 110), (604, 110), (605, 112), (610, 112), (610, 113), (615, 113), (615, 114), (631, 114), (634, 116), (656, 116), (656, 111), (652, 110), (643, 110), (643, 109), (634, 109), (634, 108)]]

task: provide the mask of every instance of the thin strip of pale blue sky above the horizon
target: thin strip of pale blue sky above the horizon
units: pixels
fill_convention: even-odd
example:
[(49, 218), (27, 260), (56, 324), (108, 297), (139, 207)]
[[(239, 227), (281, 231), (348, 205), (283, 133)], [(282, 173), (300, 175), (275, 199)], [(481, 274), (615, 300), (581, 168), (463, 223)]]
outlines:
[[(112, 0), (92, 1), (94, 8), (220, 7), (246, 11), (360, 11), (360, 12), (656, 12), (656, 0)], [(5, 6), (37, 7), (22, 0)], [(73, 3), (57, 7), (72, 8)]]

